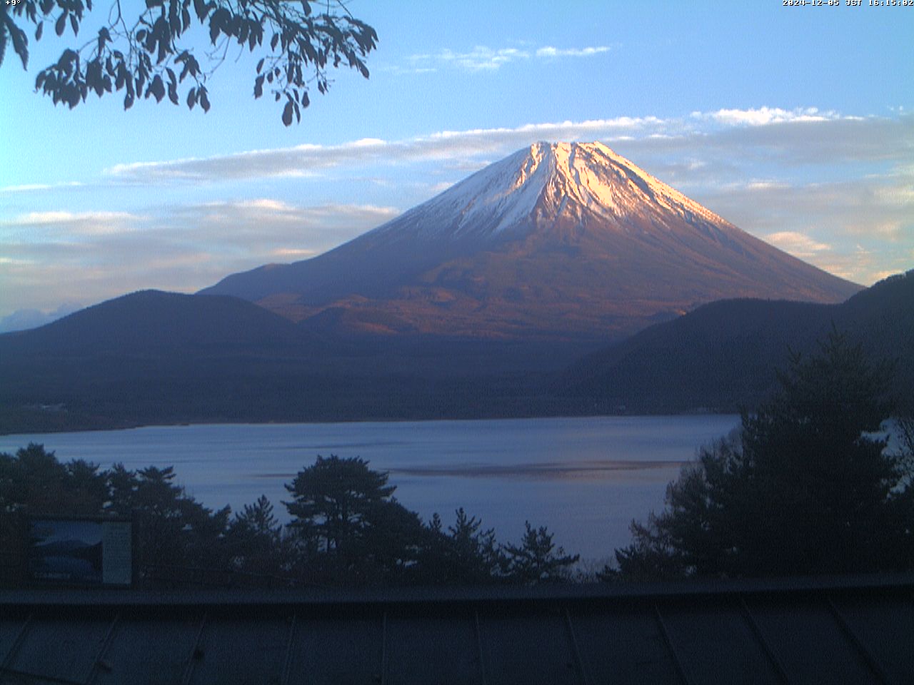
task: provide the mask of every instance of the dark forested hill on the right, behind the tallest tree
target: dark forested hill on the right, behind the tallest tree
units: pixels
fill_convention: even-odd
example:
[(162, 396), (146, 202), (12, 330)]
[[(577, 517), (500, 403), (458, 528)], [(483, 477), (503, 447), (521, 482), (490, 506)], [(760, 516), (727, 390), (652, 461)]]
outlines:
[(838, 305), (712, 302), (588, 355), (557, 392), (597, 412), (750, 407), (771, 392), (790, 351), (813, 351), (833, 324), (874, 358), (898, 360), (894, 390), (914, 407), (914, 270)]

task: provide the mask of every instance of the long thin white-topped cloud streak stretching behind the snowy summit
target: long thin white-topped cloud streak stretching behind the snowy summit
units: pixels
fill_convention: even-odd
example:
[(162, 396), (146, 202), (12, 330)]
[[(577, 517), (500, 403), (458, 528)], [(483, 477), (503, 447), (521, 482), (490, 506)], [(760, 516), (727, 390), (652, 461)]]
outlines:
[[(600, 140), (645, 157), (761, 156), (781, 163), (909, 160), (914, 116), (843, 116), (815, 108), (693, 112), (682, 119), (655, 116), (528, 123), (515, 128), (442, 131), (399, 141), (363, 139), (337, 145), (304, 144), (201, 159), (122, 163), (105, 174), (123, 182), (181, 184), (245, 178), (315, 177), (331, 169), (402, 163), (461, 162), (479, 168), (539, 140)], [(624, 153), (624, 152), (623, 152)], [(643, 155), (643, 156), (642, 156)]]

